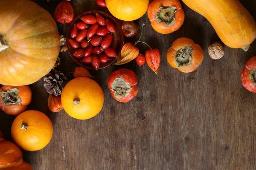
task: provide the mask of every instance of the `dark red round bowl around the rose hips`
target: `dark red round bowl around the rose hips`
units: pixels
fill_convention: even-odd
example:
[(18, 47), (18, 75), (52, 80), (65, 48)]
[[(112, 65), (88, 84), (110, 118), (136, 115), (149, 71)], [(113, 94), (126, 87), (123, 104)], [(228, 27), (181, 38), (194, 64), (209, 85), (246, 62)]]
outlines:
[[(82, 58), (77, 58), (73, 56), (73, 53), (76, 49), (74, 49), (71, 45), (70, 42), (68, 41), (68, 39), (70, 38), (70, 31), (73, 27), (74, 24), (78, 23), (79, 21), (81, 21), (80, 17), (85, 15), (85, 14), (91, 14), (94, 17), (96, 17), (96, 13), (100, 14), (102, 17), (104, 17), (105, 19), (110, 20), (116, 27), (116, 32), (113, 33), (113, 40), (111, 43), (111, 48), (116, 50), (117, 55), (119, 56), (122, 50), (122, 46), (124, 45), (124, 37), (123, 37), (123, 33), (122, 33), (122, 29), (121, 26), (119, 25), (119, 23), (116, 21), (116, 19), (114, 17), (112, 17), (110, 14), (107, 14), (103, 11), (87, 11), (84, 12), (82, 14), (80, 14), (78, 17), (76, 17), (72, 23), (70, 24), (68, 30), (67, 30), (67, 35), (66, 35), (66, 39), (67, 39), (67, 50), (70, 54), (70, 56), (73, 58), (73, 60), (76, 61), (77, 64), (82, 65), (82, 67), (84, 68), (88, 68), (88, 69), (93, 69), (95, 70), (95, 68), (93, 67), (93, 65), (90, 64), (86, 64), (86, 63), (82, 63), (83, 57)], [(106, 63), (100, 63), (99, 69), (101, 68), (105, 68), (108, 67), (109, 65), (113, 64), (116, 61), (116, 58), (111, 58), (109, 57), (109, 61)], [(81, 64), (82, 63), (82, 64)]]

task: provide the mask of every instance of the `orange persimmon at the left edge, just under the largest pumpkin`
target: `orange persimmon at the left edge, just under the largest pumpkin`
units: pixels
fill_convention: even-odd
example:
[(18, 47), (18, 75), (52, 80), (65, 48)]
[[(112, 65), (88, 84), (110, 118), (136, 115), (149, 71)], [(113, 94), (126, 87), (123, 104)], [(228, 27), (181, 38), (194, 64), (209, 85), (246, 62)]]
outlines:
[(10, 115), (18, 115), (25, 111), (32, 99), (32, 92), (28, 85), (3, 85), (0, 93), (0, 108)]

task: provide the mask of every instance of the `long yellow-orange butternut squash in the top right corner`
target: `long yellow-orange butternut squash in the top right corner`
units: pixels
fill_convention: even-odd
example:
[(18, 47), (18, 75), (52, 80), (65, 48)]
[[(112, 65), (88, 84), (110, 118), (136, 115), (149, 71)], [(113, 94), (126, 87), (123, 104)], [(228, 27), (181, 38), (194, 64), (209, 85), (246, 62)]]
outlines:
[(242, 48), (256, 38), (256, 23), (239, 0), (182, 0), (207, 18), (225, 45)]

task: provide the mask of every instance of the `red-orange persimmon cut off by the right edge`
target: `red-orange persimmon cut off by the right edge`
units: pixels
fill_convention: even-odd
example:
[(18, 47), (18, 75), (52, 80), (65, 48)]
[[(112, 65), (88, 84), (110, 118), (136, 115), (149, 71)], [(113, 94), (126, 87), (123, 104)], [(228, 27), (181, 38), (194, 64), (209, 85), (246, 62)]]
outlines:
[(256, 93), (256, 56), (251, 57), (245, 63), (241, 79), (244, 88), (250, 92)]

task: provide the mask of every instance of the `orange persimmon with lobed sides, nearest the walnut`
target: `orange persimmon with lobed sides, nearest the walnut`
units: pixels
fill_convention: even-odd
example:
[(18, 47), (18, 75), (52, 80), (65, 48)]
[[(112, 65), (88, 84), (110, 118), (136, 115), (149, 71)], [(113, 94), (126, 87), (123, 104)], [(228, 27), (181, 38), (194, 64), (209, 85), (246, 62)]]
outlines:
[(195, 71), (203, 59), (204, 51), (200, 45), (185, 37), (175, 40), (167, 52), (169, 65), (183, 73)]

